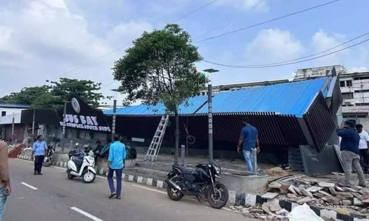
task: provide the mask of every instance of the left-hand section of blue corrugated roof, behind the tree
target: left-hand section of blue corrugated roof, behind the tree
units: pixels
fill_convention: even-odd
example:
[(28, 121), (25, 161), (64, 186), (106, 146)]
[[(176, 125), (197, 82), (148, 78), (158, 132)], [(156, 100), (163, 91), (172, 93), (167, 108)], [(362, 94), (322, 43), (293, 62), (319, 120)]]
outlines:
[[(207, 96), (197, 96), (189, 99), (189, 105), (179, 106), (179, 114), (192, 114), (200, 108), (207, 101)], [(111, 115), (113, 110), (104, 111), (106, 115)], [(158, 104), (155, 107), (149, 107), (147, 105), (136, 105), (124, 108), (118, 108), (117, 115), (162, 115), (165, 113), (165, 107), (163, 104)]]

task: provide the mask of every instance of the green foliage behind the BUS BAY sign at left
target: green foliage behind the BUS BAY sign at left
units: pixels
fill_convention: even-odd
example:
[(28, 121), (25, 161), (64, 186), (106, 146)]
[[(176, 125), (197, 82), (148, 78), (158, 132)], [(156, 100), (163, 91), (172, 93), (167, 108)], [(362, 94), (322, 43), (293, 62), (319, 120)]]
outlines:
[(65, 101), (76, 96), (85, 99), (88, 104), (94, 107), (99, 106), (100, 99), (111, 98), (95, 92), (100, 90), (101, 83), (90, 80), (60, 78), (59, 81), (46, 82), (50, 85), (25, 87), (19, 92), (13, 92), (0, 98), (0, 103), (28, 104), (32, 108), (59, 109), (64, 106)]

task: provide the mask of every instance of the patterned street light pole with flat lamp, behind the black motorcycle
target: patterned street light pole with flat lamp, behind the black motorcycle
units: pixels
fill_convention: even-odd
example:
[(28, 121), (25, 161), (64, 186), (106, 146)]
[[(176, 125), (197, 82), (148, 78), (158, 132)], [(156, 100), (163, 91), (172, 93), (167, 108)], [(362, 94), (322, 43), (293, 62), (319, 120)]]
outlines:
[[(208, 76), (211, 73), (218, 72), (215, 69), (206, 69), (203, 70), (208, 73)], [(208, 148), (209, 148), (209, 162), (213, 161), (213, 90), (211, 86), (211, 76), (208, 83)]]

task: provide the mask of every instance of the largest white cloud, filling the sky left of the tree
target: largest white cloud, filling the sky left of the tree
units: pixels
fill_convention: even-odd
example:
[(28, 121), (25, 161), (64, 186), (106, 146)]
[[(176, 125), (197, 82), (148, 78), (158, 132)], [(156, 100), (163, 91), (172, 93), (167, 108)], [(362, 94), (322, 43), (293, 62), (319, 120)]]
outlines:
[[(0, 97), (59, 77), (100, 81), (107, 85), (102, 91), (111, 95), (109, 90), (118, 83), (108, 85), (113, 80), (110, 68), (124, 49), (91, 61), (129, 46), (152, 27), (148, 22), (131, 20), (111, 25), (106, 33), (94, 33), (90, 23), (71, 11), (64, 0), (33, 0), (17, 10), (0, 11), (0, 68), (5, 73), (1, 77), (9, 82), (0, 87)], [(83, 65), (87, 67), (63, 74)]]

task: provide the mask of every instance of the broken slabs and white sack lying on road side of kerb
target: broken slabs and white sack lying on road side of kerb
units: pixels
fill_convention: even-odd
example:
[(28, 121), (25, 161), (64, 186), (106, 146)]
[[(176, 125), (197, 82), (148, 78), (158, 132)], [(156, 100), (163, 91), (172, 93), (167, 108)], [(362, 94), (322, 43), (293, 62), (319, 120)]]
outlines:
[(287, 215), (289, 212), (279, 206), (277, 200), (272, 200), (268, 203), (263, 203), (263, 205), (250, 206), (230, 206), (230, 208), (238, 213), (243, 214), (247, 218), (256, 218), (259, 220), (266, 221), (287, 221)]

